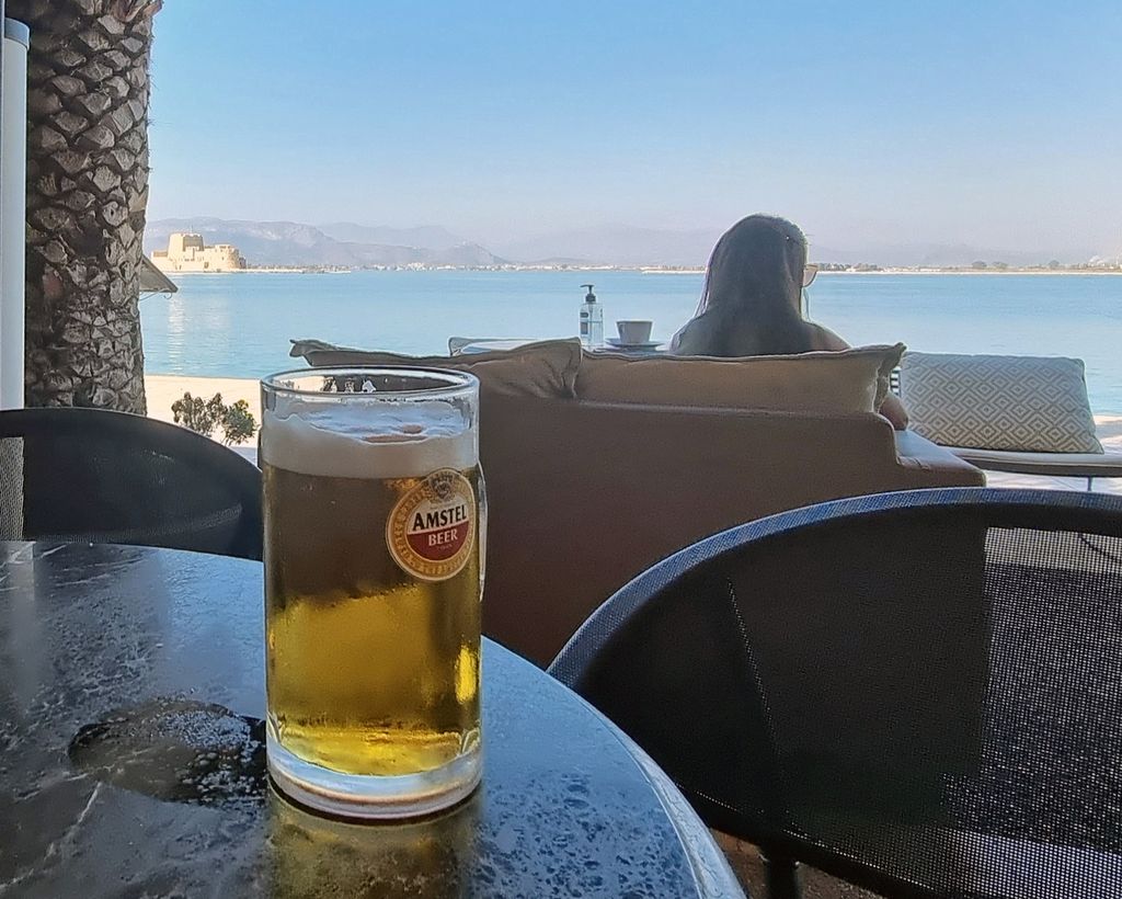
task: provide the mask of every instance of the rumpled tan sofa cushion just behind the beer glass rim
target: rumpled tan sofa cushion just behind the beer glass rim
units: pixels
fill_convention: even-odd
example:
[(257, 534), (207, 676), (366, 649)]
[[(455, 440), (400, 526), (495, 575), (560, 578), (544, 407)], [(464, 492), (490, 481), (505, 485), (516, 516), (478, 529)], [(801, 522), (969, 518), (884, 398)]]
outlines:
[(572, 398), (580, 370), (580, 340), (543, 340), (512, 350), (470, 356), (402, 356), (337, 347), (320, 340), (292, 341), (291, 356), (315, 368), (343, 366), (423, 366), (470, 371), (480, 389), (502, 396)]

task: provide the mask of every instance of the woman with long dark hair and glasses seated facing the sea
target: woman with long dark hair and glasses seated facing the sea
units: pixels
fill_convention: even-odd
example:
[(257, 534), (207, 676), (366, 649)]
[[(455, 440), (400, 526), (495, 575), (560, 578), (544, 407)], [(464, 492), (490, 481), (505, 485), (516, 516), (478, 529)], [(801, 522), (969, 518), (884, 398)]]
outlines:
[[(674, 334), (678, 356), (778, 356), (844, 350), (840, 337), (802, 318), (802, 288), (818, 274), (807, 238), (775, 215), (748, 215), (712, 248), (698, 311)], [(881, 414), (903, 430), (908, 413), (890, 394)]]

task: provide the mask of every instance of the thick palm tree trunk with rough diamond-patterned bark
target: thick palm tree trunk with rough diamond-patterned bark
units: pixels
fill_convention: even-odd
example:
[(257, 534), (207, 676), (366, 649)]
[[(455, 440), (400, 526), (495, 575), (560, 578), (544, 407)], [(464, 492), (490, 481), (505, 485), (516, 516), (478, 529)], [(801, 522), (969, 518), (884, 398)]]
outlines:
[(162, 0), (8, 0), (31, 29), (27, 403), (144, 413), (148, 59)]

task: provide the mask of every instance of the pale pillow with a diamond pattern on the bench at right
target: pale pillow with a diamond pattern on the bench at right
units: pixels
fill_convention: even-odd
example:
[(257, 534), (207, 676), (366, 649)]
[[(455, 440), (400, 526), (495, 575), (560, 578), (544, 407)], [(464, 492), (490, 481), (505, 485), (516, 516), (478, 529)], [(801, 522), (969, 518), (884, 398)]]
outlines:
[(1103, 451), (1082, 359), (908, 352), (900, 398), (911, 428), (945, 447)]

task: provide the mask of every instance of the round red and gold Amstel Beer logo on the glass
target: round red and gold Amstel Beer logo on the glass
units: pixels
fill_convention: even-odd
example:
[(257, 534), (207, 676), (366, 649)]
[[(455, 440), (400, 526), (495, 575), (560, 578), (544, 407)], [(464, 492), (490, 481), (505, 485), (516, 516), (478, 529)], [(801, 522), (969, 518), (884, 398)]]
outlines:
[(394, 560), (421, 580), (447, 580), (468, 562), (476, 536), (476, 496), (459, 471), (433, 471), (402, 496), (386, 522)]

